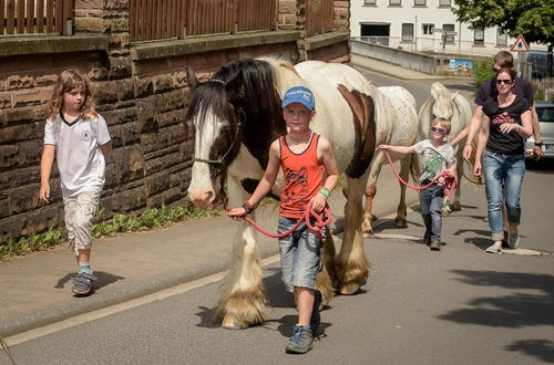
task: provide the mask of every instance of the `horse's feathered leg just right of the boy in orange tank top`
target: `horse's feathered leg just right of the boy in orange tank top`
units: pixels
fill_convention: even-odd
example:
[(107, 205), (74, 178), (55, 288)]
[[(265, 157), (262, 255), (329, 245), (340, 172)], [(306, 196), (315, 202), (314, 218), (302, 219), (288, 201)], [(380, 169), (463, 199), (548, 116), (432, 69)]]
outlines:
[(345, 205), (345, 236), (340, 252), (335, 260), (340, 294), (355, 294), (369, 277), (369, 260), (363, 250), (361, 233), (365, 179), (348, 178), (348, 200)]

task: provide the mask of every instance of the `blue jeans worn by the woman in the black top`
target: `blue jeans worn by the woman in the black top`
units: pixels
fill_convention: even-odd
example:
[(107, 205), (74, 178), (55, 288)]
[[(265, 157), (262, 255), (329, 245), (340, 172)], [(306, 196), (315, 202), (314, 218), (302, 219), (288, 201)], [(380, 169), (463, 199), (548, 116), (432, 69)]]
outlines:
[[(512, 225), (520, 223), (520, 196), (523, 177), (525, 176), (525, 157), (523, 155), (503, 155), (485, 150), (483, 171), (491, 238), (493, 241), (501, 241), (504, 238), (502, 221), (502, 204), (504, 201), (507, 209), (507, 221)], [(502, 187), (504, 187), (504, 197), (502, 196)]]

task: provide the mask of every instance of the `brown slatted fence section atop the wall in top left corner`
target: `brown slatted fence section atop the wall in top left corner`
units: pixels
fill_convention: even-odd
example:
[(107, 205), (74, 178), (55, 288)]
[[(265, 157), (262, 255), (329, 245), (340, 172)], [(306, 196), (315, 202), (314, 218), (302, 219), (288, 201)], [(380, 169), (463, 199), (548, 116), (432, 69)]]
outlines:
[(0, 0), (0, 35), (71, 33), (72, 7), (72, 0)]

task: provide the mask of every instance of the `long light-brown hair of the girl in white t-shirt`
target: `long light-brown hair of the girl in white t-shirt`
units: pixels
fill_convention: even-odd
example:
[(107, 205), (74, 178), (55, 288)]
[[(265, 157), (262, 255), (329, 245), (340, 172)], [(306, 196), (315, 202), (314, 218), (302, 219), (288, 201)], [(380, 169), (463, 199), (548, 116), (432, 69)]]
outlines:
[(54, 119), (58, 113), (61, 112), (63, 106), (63, 93), (70, 92), (74, 88), (84, 88), (84, 104), (81, 106), (81, 117), (92, 116), (96, 117), (96, 113), (93, 111), (93, 103), (91, 97), (91, 88), (89, 87), (89, 82), (86, 79), (76, 70), (65, 70), (58, 77), (58, 82), (54, 86), (52, 93), (52, 98), (50, 101), (50, 113), (48, 118)]

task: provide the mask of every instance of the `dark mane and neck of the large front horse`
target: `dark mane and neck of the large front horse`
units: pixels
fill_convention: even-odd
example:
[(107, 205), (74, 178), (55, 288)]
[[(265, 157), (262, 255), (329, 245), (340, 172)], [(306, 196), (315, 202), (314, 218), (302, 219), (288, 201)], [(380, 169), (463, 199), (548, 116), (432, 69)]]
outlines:
[(269, 143), (286, 133), (278, 77), (283, 69), (296, 73), (283, 59), (240, 59), (228, 63), (194, 90), (185, 119), (197, 116), (201, 131), (208, 111), (228, 121), (232, 131), (242, 119), (243, 143), (265, 167)]

